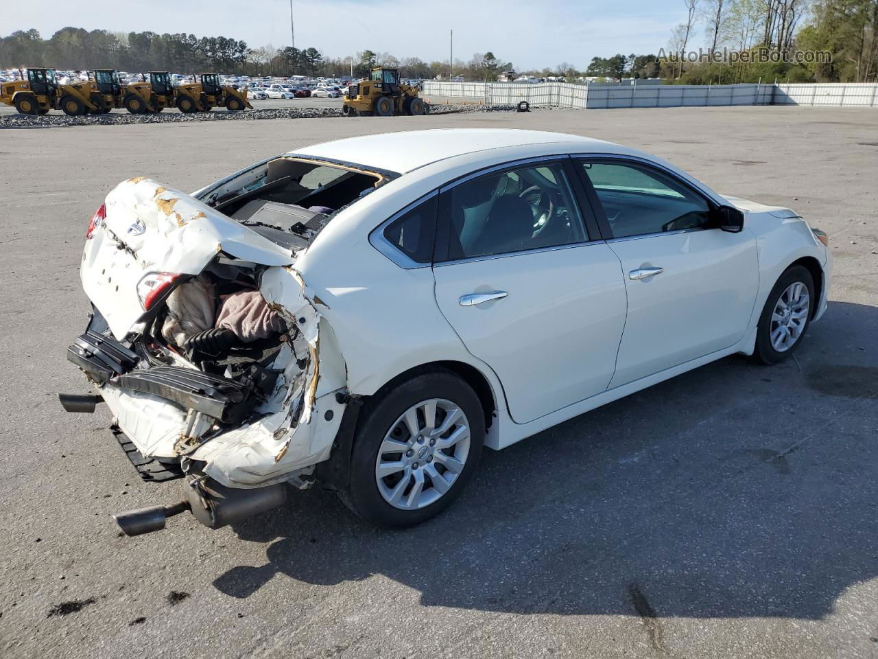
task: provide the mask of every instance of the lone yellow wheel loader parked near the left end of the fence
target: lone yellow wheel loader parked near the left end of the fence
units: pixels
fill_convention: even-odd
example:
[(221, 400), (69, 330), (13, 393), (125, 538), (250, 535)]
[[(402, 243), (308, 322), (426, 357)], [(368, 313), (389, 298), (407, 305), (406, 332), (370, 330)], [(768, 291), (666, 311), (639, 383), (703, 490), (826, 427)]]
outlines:
[(428, 106), (418, 88), (399, 83), (399, 69), (371, 69), (369, 78), (352, 83), (344, 98), (345, 116), (392, 117), (394, 114), (426, 114)]

